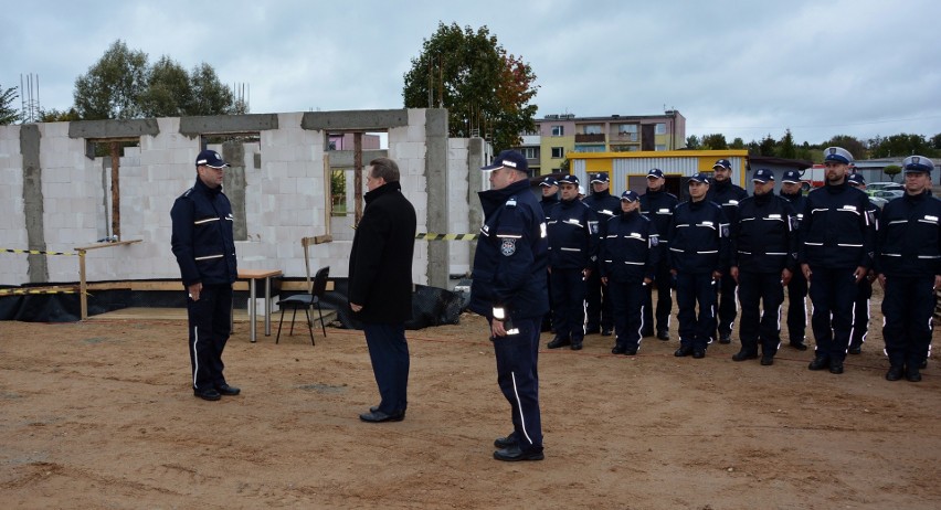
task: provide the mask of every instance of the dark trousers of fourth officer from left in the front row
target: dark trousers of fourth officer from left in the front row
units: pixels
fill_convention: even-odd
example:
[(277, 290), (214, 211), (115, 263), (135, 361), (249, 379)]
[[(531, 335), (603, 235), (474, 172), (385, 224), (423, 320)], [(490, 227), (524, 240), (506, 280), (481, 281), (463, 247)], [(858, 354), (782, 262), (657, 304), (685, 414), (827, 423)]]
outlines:
[(739, 339), (742, 351), (773, 357), (781, 344), (781, 305), (784, 286), (780, 273), (739, 273), (739, 304), (742, 307)]

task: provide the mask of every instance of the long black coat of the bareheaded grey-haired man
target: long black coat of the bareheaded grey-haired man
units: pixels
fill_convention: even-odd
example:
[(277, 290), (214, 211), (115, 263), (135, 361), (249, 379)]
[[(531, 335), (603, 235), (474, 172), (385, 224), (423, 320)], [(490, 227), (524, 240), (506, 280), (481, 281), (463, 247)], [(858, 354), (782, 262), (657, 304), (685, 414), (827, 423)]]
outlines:
[(366, 193), (349, 265), (349, 301), (367, 323), (394, 325), (412, 318), (412, 256), (415, 208), (399, 182)]

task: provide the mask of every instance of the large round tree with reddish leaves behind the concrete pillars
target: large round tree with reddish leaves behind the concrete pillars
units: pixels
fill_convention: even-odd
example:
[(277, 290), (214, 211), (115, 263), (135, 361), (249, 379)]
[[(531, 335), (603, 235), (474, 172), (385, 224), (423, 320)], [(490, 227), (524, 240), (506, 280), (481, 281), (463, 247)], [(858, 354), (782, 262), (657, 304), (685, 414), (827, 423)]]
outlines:
[(438, 23), (404, 75), (406, 108), (438, 106), (448, 110), (454, 137), (479, 132), (494, 150), (520, 142), (519, 134), (536, 128), (536, 75), (521, 57), (507, 54), (487, 26), (474, 32), (457, 23)]

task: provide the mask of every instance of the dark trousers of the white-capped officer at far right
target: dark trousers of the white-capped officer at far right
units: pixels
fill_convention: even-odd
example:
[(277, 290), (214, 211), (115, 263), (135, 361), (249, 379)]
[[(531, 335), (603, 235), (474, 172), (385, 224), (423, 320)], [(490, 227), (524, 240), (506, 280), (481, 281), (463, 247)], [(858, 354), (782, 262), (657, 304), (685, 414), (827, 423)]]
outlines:
[(928, 359), (934, 330), (931, 320), (935, 299), (933, 285), (931, 276), (886, 277), (882, 337), (889, 363), (920, 366)]

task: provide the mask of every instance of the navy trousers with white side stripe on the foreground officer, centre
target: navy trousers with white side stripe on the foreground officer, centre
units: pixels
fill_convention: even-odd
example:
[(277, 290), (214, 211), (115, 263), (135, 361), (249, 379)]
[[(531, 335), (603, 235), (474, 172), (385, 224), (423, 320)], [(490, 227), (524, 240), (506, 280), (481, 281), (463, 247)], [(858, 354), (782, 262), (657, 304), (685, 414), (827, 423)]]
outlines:
[[(553, 270), (554, 274), (554, 270)], [(539, 326), (542, 318), (514, 319), (517, 334), (491, 338), (497, 359), (497, 384), (510, 404), (512, 436), (526, 453), (542, 451), (539, 413)], [(504, 326), (509, 327), (507, 323)]]

